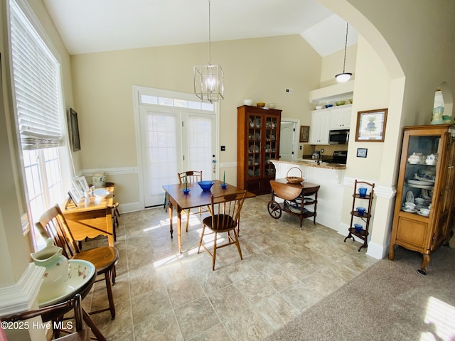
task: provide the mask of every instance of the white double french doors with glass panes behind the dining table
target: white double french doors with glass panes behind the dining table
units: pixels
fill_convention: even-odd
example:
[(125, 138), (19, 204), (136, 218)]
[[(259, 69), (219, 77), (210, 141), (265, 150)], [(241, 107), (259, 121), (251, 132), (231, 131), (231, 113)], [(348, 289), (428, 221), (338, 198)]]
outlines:
[(178, 183), (177, 173), (216, 177), (215, 117), (193, 109), (139, 108), (145, 207), (163, 205), (162, 186)]

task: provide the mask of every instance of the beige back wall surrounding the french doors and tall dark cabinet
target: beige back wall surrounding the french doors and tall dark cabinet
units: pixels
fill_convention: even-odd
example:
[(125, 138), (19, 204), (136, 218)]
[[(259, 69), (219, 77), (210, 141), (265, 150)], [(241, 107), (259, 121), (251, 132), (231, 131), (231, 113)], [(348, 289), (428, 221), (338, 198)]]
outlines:
[[(84, 169), (136, 167), (132, 87), (193, 92), (193, 66), (205, 64), (208, 44), (73, 55), (73, 87)], [(237, 107), (243, 99), (276, 102), (283, 117), (309, 125), (309, 91), (319, 86), (321, 57), (301, 36), (212, 43), (212, 63), (225, 72), (220, 102), (220, 163), (237, 161)], [(285, 88), (293, 94), (287, 94)], [(196, 96), (195, 96), (196, 99)], [(236, 173), (226, 180), (237, 183)], [(109, 178), (109, 176), (108, 176)], [(137, 187), (117, 175), (124, 187)], [(117, 182), (116, 182), (117, 183)], [(119, 194), (122, 196), (121, 194)], [(122, 202), (125, 197), (119, 197)], [(135, 201), (139, 200), (137, 197)]]

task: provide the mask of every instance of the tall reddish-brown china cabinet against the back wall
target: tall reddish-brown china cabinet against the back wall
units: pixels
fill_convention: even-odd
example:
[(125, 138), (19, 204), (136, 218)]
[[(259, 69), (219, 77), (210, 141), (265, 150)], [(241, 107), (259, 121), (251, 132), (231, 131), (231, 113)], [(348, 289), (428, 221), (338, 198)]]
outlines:
[(243, 105), (237, 108), (237, 187), (256, 195), (270, 193), (279, 158), (282, 111)]

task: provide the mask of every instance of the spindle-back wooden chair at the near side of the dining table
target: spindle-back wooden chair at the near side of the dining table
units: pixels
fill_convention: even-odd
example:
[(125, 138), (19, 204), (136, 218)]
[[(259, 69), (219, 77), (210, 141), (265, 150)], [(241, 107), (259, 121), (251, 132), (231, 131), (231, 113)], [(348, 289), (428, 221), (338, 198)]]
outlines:
[[(212, 195), (210, 217), (205, 217), (203, 220), (203, 228), (202, 233), (200, 234), (198, 247), (198, 253), (200, 247), (203, 247), (205, 251), (212, 256), (212, 270), (215, 270), (216, 250), (222, 247), (235, 244), (240, 259), (243, 259), (238, 239), (237, 226), (239, 224), (240, 211), (242, 210), (246, 195), (246, 190), (231, 194)], [(210, 229), (211, 232), (205, 233), (206, 228)], [(226, 232), (228, 241), (225, 244), (218, 245), (217, 236), (219, 233), (223, 232)], [(212, 251), (203, 244), (203, 238), (208, 234), (214, 234)]]

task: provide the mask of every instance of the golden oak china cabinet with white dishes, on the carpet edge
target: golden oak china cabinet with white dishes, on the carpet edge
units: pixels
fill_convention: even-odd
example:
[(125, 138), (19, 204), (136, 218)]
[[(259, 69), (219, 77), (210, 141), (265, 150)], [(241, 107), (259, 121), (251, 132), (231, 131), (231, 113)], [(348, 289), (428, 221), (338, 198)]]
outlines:
[(455, 126), (407, 126), (402, 145), (389, 259), (395, 246), (423, 255), (426, 274), (430, 254), (448, 246), (454, 226)]

